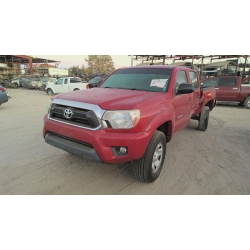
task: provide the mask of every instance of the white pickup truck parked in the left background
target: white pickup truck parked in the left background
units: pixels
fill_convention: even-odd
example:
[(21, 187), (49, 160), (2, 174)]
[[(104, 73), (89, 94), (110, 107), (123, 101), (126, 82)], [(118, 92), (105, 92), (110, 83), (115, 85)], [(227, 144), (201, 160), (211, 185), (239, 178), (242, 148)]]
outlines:
[(60, 94), (76, 90), (87, 89), (87, 83), (83, 83), (79, 77), (59, 78), (54, 84), (48, 84), (45, 91), (48, 95)]

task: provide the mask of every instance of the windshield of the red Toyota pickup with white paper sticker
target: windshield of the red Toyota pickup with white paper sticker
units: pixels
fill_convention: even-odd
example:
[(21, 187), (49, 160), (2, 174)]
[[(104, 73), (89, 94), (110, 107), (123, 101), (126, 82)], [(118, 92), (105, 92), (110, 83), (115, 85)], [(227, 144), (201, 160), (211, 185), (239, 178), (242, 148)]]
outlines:
[(117, 88), (165, 92), (172, 70), (164, 68), (128, 68), (117, 70), (101, 88)]

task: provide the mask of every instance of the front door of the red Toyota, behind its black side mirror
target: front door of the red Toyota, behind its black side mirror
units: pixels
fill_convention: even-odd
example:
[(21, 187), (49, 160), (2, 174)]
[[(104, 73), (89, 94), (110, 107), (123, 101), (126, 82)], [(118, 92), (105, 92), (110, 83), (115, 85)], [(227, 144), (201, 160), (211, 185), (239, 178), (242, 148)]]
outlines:
[(177, 93), (181, 83), (188, 83), (187, 72), (179, 70), (174, 85), (175, 133), (185, 128), (190, 121), (193, 94)]

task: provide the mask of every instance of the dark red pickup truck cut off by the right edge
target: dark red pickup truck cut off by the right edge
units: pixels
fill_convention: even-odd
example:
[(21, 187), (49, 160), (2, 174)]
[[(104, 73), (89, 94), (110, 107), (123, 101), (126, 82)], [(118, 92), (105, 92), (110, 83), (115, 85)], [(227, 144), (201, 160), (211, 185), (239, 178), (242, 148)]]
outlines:
[(240, 76), (219, 76), (203, 79), (203, 87), (214, 87), (217, 101), (239, 102), (250, 109), (250, 85), (242, 84)]

